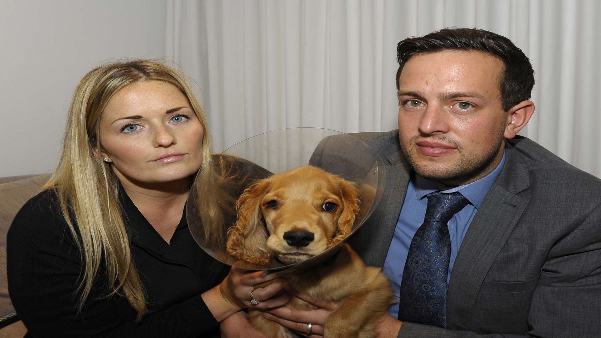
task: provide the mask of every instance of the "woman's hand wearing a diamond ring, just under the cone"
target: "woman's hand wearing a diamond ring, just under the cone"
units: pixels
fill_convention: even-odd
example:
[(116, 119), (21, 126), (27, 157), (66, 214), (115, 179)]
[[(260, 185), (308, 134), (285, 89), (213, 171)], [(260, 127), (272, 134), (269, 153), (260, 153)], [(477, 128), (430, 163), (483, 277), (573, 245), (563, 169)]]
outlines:
[[(203, 300), (218, 322), (243, 308), (271, 309), (282, 306), (290, 300), (290, 295), (285, 292), (278, 295), (284, 280), (276, 280), (277, 278), (278, 275), (264, 275), (264, 271), (248, 272), (232, 266), (230, 274), (221, 284), (203, 293)], [(272, 280), (276, 281), (265, 287), (256, 286)], [(254, 304), (251, 303), (251, 292)]]

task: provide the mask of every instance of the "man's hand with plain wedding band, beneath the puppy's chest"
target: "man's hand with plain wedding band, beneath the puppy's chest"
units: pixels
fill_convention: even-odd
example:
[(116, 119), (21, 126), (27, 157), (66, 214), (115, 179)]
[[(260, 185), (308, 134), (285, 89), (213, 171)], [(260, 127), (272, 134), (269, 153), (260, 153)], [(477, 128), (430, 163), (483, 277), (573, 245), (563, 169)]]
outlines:
[[(331, 313), (338, 310), (340, 304), (316, 300), (307, 295), (302, 295), (293, 289), (290, 284), (286, 284), (284, 289), (290, 295), (300, 298), (309, 304), (319, 307), (316, 310), (294, 310), (289, 307), (278, 307), (277, 309), (269, 310), (263, 316), (284, 327), (297, 331), (298, 333), (310, 338), (322, 338), (323, 330)], [(311, 324), (311, 333), (308, 333), (308, 324)]]

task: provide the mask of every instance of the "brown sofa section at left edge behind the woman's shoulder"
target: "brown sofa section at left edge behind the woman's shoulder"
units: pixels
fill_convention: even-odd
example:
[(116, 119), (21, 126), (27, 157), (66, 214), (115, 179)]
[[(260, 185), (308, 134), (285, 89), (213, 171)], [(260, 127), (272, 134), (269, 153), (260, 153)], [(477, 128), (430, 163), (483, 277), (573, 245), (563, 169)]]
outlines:
[(40, 192), (49, 177), (49, 174), (0, 177), (0, 338), (23, 337), (26, 333), (8, 297), (6, 233), (17, 211), (29, 198)]

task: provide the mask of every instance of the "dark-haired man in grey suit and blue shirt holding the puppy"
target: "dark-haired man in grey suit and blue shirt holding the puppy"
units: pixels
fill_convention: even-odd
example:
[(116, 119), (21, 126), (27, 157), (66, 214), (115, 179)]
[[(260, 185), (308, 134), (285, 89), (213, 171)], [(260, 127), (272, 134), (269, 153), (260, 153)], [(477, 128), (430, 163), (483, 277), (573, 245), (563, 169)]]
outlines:
[[(528, 58), (481, 29), (397, 52), (398, 131), (355, 134), (386, 165), (382, 201), (349, 241), (400, 297), (381, 336), (600, 337), (601, 180), (516, 136), (534, 112)], [(328, 138), (312, 162), (340, 172), (353, 151)], [(274, 319), (323, 334), (336, 305), (311, 301), (324, 309)]]

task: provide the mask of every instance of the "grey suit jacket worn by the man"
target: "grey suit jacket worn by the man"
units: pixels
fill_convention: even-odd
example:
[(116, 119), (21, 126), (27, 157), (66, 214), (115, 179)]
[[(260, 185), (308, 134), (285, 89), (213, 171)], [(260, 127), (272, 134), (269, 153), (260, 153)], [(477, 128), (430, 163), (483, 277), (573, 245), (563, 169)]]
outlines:
[[(349, 241), (368, 265), (381, 267), (410, 168), (398, 131), (352, 135), (386, 165), (382, 200)], [(528, 138), (507, 140), (505, 151), (457, 254), (447, 329), (405, 322), (398, 337), (601, 337), (601, 180)], [(311, 164), (340, 171), (340, 158), (356, 152), (329, 137)]]

